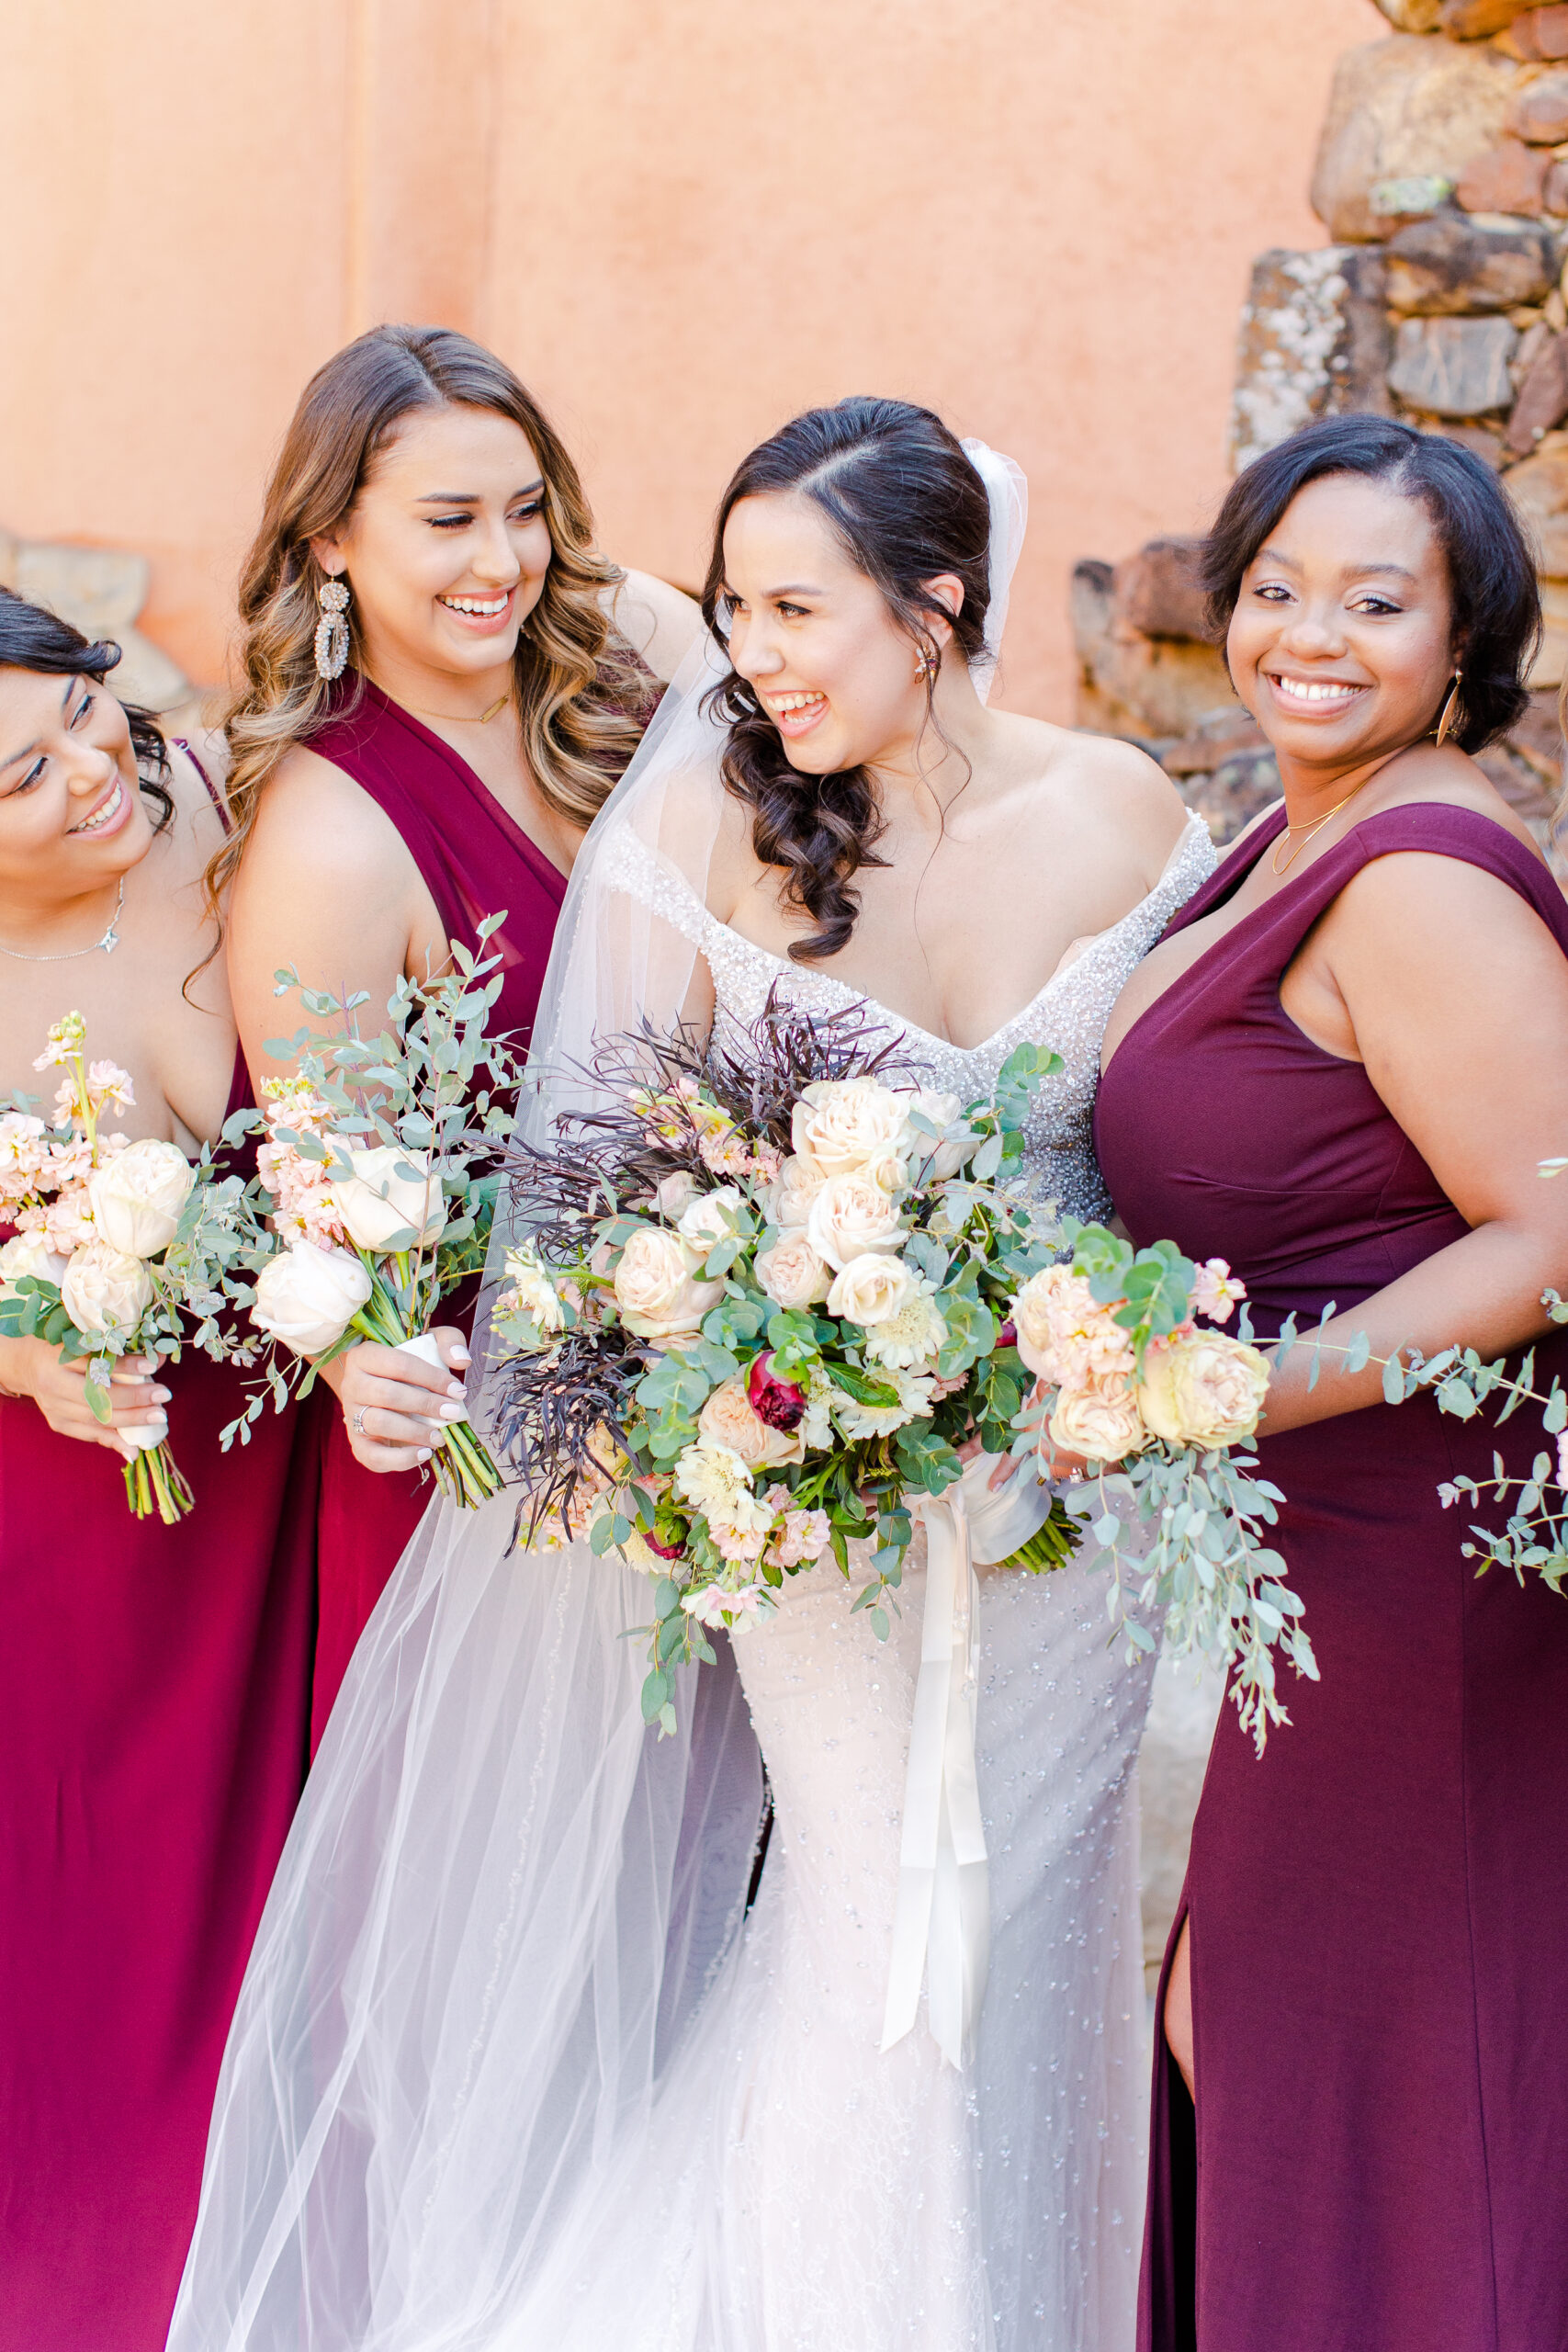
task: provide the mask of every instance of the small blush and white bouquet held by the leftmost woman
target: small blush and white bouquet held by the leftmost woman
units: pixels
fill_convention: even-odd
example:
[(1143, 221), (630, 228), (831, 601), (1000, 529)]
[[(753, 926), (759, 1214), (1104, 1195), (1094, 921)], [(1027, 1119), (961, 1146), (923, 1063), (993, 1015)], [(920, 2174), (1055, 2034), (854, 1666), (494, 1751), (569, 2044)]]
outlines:
[[(52, 1127), (28, 1110), (0, 1115), (0, 1216), (16, 1228), (0, 1249), (0, 1334), (87, 1357), (87, 1402), (108, 1421), (118, 1357), (158, 1364), (186, 1343), (216, 1359), (244, 1352), (219, 1322), (247, 1237), (244, 1185), (219, 1176), (207, 1148), (193, 1164), (176, 1143), (103, 1127), (110, 1108), (134, 1108), (132, 1082), (87, 1061), (80, 1014), (54, 1023), (33, 1068), (63, 1077)], [(129, 1508), (172, 1526), (193, 1496), (167, 1442), (153, 1428), (118, 1437), (132, 1449)]]

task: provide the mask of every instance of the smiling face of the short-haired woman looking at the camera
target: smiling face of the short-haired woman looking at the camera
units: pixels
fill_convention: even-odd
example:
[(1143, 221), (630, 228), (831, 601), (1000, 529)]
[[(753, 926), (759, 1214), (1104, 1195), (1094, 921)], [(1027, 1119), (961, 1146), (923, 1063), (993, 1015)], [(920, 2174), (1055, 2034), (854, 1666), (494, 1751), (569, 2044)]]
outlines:
[(1465, 656), (1422, 501), (1354, 473), (1307, 482), (1241, 579), (1225, 652), (1298, 767), (1347, 774), (1429, 734)]

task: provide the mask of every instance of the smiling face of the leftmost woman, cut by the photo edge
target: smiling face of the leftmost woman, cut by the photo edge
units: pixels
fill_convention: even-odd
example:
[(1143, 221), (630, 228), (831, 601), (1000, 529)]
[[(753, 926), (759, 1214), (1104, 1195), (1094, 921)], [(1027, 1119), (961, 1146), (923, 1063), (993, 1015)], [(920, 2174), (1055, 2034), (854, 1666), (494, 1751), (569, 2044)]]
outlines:
[(153, 847), (125, 710), (92, 677), (0, 670), (0, 889), (63, 901)]

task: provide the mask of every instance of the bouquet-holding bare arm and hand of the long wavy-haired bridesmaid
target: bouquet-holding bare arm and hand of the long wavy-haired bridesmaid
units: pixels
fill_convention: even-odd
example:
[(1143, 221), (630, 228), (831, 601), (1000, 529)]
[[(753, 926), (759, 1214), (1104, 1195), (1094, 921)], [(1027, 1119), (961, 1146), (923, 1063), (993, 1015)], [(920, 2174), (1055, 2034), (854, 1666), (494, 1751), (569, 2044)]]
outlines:
[[(275, 971), (292, 964), (308, 988), (339, 997), (364, 988), (360, 1018), (376, 1033), (400, 976), (440, 971), (444, 960), (440, 917), (397, 828), (329, 760), (289, 753), (266, 783), (228, 906), (228, 988), (256, 1089), (294, 1068), (268, 1040), (341, 1028), (275, 995)], [(463, 1334), (442, 1324), (435, 1336), (447, 1369), (369, 1341), (322, 1367), (367, 1470), (428, 1461), (442, 1404), (461, 1399), (451, 1374), (468, 1364)]]

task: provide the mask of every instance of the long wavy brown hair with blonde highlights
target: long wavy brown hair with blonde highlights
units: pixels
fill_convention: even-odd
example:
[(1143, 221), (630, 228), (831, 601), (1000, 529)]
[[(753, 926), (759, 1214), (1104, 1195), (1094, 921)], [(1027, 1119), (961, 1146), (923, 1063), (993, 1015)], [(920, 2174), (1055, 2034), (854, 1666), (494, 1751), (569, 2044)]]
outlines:
[[(341, 529), (402, 419), (435, 407), (510, 416), (545, 480), (550, 569), (517, 637), (522, 743), (538, 790), (585, 826), (637, 748), (649, 680), (604, 614), (604, 590), (623, 574), (595, 546), (592, 513), (559, 435), (482, 343), (451, 327), (371, 327), (301, 393), (240, 572), (244, 684), (223, 720), (233, 833), (207, 868), (214, 908), (244, 856), (268, 776), (341, 708), (315, 668), (327, 574), (310, 541)], [(348, 640), (357, 666), (353, 607)]]

